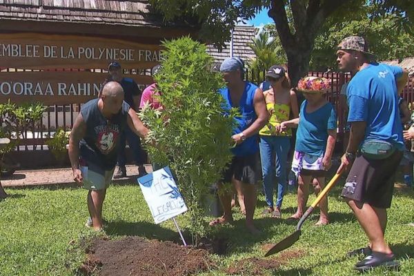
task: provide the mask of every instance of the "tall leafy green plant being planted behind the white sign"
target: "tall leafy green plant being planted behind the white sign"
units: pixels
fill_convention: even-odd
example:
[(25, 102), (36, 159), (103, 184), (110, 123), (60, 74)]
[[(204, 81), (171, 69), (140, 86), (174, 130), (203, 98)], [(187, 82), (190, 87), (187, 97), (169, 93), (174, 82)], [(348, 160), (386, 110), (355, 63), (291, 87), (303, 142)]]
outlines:
[(206, 46), (183, 37), (165, 41), (162, 68), (155, 76), (162, 110), (144, 107), (140, 117), (150, 129), (147, 145), (152, 161), (168, 165), (177, 175), (189, 208), (189, 230), (206, 234), (202, 201), (230, 161), (231, 130), (235, 110), (224, 116), (224, 86), (213, 72)]

